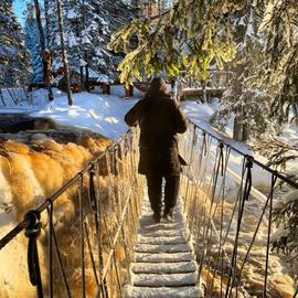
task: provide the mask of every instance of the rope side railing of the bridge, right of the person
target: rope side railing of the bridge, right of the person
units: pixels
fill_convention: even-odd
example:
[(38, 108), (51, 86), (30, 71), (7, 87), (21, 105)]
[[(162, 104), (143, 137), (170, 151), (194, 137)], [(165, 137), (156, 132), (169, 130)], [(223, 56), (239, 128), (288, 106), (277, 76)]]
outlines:
[(287, 190), (298, 184), (191, 121), (181, 143), (189, 166), (180, 193), (205, 297), (284, 297), (275, 287), (273, 205), (277, 179)]

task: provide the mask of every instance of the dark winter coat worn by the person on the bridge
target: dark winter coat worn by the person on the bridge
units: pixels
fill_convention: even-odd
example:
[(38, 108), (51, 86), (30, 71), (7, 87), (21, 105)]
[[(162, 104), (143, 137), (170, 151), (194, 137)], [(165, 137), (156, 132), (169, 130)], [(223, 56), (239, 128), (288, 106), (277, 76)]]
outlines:
[(140, 126), (141, 174), (179, 174), (178, 136), (187, 131), (187, 119), (170, 96), (139, 100), (125, 116), (129, 126)]

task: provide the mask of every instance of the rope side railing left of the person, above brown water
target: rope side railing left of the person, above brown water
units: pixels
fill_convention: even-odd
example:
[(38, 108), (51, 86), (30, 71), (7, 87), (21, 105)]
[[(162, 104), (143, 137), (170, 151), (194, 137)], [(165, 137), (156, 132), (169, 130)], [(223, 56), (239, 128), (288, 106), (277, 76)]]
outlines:
[[(2, 253), (25, 232), (29, 277), (39, 298), (124, 297), (143, 191), (137, 163), (132, 129), (0, 240)], [(60, 212), (62, 194), (74, 206), (67, 219)]]

